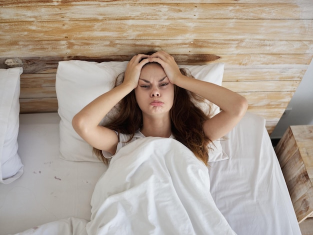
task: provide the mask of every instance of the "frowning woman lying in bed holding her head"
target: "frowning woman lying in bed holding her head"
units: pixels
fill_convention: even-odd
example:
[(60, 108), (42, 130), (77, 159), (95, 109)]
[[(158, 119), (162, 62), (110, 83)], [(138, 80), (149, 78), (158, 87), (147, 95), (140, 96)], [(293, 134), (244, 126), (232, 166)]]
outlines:
[[(193, 104), (187, 90), (215, 103), (221, 111), (209, 118)], [(117, 118), (99, 125), (118, 102)], [(72, 125), (104, 163), (108, 160), (102, 151), (114, 155), (127, 141), (159, 136), (174, 137), (207, 164), (207, 144), (231, 130), (246, 109), (243, 96), (187, 76), (171, 55), (157, 51), (134, 55), (123, 82), (86, 105), (73, 117)]]

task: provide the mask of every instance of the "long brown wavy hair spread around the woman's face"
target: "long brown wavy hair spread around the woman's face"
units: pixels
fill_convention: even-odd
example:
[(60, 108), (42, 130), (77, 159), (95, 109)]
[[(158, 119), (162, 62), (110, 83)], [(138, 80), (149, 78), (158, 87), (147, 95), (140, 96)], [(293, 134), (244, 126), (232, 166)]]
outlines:
[[(188, 69), (180, 68), (180, 72), (192, 77)], [(115, 85), (119, 83), (117, 78)], [(210, 113), (204, 113), (195, 104), (196, 102), (204, 102), (204, 98), (174, 85), (174, 101), (169, 111), (171, 131), (176, 140), (188, 147), (197, 158), (208, 165), (208, 143), (211, 140), (205, 136), (202, 125), (209, 118)], [(118, 135), (119, 133), (129, 134), (128, 141), (130, 141), (134, 133), (142, 126), (142, 112), (136, 102), (134, 90), (121, 99), (118, 103), (118, 110), (123, 111), (116, 111), (116, 116), (104, 126), (117, 131)], [(109, 159), (103, 156), (100, 149), (93, 148), (93, 153), (106, 165), (109, 163)]]

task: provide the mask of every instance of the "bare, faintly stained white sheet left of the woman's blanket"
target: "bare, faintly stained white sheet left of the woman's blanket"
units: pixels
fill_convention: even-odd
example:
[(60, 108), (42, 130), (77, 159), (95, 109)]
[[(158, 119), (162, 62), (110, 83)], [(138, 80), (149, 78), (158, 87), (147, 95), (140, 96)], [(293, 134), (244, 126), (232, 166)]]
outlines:
[(59, 158), (57, 113), (19, 118), (18, 153), (24, 173), (0, 184), (0, 234), (71, 216), (89, 220), (91, 194), (106, 166)]

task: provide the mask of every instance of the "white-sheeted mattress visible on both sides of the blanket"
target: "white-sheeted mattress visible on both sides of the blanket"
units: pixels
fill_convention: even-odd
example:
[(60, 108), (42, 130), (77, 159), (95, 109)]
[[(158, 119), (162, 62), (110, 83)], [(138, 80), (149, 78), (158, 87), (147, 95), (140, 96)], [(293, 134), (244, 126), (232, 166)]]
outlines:
[[(90, 220), (90, 199), (106, 166), (59, 158), (57, 113), (21, 114), (23, 175), (0, 184), (0, 234), (47, 222)], [(210, 192), (237, 234), (301, 234), (265, 120), (247, 113), (221, 140), (227, 160), (211, 162)]]

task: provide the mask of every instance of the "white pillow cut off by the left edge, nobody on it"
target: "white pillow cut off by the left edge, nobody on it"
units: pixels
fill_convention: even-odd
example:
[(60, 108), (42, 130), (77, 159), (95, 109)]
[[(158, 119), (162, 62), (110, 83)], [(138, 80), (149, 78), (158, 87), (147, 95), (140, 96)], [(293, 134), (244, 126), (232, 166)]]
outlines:
[(0, 182), (10, 183), (23, 173), (17, 153), (19, 91), (22, 67), (0, 69)]

